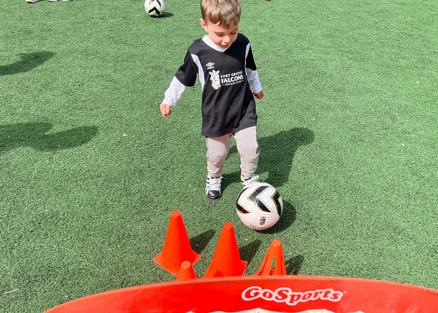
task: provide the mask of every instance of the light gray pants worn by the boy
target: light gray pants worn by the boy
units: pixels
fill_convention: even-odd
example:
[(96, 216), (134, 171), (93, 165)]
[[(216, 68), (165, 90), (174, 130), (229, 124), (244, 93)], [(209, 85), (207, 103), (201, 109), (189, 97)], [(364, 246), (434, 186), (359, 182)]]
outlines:
[(244, 177), (251, 177), (257, 169), (260, 147), (255, 126), (242, 129), (222, 137), (205, 137), (207, 142), (207, 170), (212, 177), (222, 176), (223, 164), (230, 149), (230, 138), (234, 136), (240, 153), (240, 169)]

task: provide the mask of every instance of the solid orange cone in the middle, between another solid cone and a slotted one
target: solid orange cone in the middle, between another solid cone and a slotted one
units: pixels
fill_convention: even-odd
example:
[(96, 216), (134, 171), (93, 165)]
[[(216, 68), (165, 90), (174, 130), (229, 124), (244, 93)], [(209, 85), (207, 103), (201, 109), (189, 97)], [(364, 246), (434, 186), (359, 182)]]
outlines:
[(243, 276), (248, 262), (240, 260), (237, 249), (236, 235), (233, 224), (225, 223), (213, 255), (212, 263), (207, 269), (204, 278), (223, 276)]

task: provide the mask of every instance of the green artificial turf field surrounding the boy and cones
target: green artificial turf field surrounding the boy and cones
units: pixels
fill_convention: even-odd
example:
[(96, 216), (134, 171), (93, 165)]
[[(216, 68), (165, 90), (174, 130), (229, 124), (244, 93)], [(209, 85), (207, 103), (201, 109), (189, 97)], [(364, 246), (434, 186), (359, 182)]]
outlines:
[(140, 0), (0, 7), (0, 312), (174, 280), (152, 261), (172, 210), (199, 277), (231, 221), (248, 275), (278, 238), (288, 274), (438, 289), (436, 1), (242, 0), (257, 174), (285, 204), (260, 232), (236, 214), (234, 141), (223, 198), (205, 198), (199, 82), (159, 113), (204, 36), (198, 0), (161, 18)]

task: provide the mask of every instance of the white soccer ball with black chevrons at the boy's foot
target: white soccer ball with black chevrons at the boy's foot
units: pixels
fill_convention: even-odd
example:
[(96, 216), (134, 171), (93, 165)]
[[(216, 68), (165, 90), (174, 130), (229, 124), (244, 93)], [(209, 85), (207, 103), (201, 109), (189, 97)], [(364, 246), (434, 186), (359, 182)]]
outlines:
[(237, 215), (250, 228), (272, 227), (283, 212), (283, 200), (277, 190), (265, 182), (253, 182), (237, 197)]

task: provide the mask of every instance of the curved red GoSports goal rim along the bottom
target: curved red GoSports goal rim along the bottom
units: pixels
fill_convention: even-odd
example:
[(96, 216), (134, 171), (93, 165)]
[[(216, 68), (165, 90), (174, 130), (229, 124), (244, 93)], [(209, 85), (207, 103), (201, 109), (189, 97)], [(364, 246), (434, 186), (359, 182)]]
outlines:
[(113, 290), (46, 313), (437, 313), (438, 291), (359, 278), (245, 276)]

